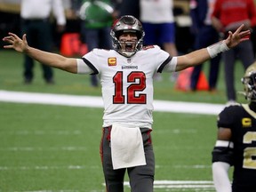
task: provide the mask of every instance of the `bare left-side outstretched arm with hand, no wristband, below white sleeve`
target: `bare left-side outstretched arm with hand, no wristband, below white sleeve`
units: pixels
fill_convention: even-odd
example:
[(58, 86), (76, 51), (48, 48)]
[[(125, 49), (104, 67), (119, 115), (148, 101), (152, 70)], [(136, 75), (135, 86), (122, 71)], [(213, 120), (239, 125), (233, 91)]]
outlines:
[(5, 36), (3, 38), (3, 41), (7, 43), (7, 45), (4, 45), (4, 49), (13, 49), (17, 52), (22, 52), (27, 54), (32, 59), (37, 60), (40, 63), (44, 63), (44, 65), (52, 68), (60, 68), (70, 73), (77, 72), (76, 59), (66, 58), (60, 54), (43, 52), (36, 48), (30, 47), (27, 42), (26, 34), (22, 36), (22, 39), (13, 33), (8, 33), (8, 35), (9, 36)]

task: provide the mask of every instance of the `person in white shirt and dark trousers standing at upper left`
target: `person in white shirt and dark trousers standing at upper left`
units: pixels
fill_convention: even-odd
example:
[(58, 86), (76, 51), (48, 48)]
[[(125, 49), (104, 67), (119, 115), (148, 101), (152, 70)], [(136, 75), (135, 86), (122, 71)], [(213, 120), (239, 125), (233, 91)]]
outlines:
[[(64, 7), (61, 0), (21, 0), (21, 33), (28, 35), (28, 44), (50, 52), (52, 49), (51, 14), (56, 18), (57, 32), (63, 32), (66, 25)], [(31, 84), (34, 78), (34, 60), (24, 56), (24, 83)], [(43, 77), (46, 84), (53, 84), (52, 68), (43, 65)]]

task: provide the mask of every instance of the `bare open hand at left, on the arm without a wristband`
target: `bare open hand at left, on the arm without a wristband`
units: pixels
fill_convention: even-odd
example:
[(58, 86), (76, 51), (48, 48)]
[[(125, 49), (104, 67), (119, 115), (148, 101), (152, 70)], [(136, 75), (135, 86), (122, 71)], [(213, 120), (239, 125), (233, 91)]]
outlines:
[(14, 49), (17, 52), (27, 52), (28, 51), (28, 42), (26, 38), (26, 34), (22, 36), (20, 39), (19, 36), (8, 33), (9, 36), (4, 36), (3, 41), (8, 43), (8, 45), (4, 45), (4, 49)]

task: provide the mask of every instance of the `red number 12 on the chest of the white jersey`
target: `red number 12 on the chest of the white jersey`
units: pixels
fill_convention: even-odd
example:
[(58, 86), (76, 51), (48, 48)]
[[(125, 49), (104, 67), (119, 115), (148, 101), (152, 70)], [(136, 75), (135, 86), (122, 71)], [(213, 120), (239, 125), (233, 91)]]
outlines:
[[(113, 82), (115, 84), (115, 95), (113, 96), (114, 104), (124, 104), (124, 84), (123, 82), (124, 74), (122, 71), (116, 72), (113, 77)], [(136, 92), (142, 92), (146, 88), (146, 76), (143, 72), (132, 71), (126, 79), (127, 83), (131, 83), (127, 87), (127, 104), (146, 104), (147, 96), (146, 94), (136, 94)]]

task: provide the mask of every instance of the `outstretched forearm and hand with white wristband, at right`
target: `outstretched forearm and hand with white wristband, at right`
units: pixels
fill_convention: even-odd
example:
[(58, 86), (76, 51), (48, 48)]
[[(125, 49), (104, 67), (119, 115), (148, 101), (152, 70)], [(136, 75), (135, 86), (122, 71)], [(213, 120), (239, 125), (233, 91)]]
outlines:
[(216, 57), (220, 52), (226, 52), (229, 49), (235, 47), (237, 44), (244, 42), (249, 39), (251, 34), (250, 30), (244, 30), (244, 24), (236, 29), (236, 32), (228, 32), (228, 37), (216, 44), (212, 44), (207, 48), (197, 50), (195, 52), (190, 52), (186, 55), (178, 57), (178, 63), (176, 71), (183, 70), (185, 68), (193, 67), (198, 64), (204, 63), (206, 60)]

